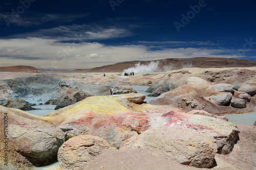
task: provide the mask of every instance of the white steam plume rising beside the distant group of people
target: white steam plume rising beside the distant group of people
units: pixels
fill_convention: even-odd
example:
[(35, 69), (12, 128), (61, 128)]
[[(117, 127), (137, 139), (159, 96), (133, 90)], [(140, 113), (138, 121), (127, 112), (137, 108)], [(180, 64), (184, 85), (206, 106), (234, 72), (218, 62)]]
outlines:
[(140, 63), (135, 64), (135, 67), (130, 67), (127, 69), (124, 69), (123, 72), (121, 72), (121, 75), (124, 76), (124, 72), (127, 74), (131, 74), (131, 72), (134, 72), (134, 74), (146, 74), (148, 72), (156, 72), (158, 70), (159, 61), (151, 61), (148, 65), (140, 65)]

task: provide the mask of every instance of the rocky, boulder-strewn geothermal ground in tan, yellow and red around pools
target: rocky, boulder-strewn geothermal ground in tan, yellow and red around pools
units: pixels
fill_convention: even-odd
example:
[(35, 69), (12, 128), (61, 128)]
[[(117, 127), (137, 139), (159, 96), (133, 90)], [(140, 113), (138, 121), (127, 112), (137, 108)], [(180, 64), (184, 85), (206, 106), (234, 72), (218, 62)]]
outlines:
[[(212, 62), (217, 61), (206, 61)], [(234, 125), (223, 116), (253, 111), (256, 67), (193, 67), (135, 76), (0, 75), (1, 121), (8, 116), (8, 125), (0, 127), (8, 129), (8, 152), (1, 133), (0, 155), (9, 158), (8, 168), (0, 159), (0, 169), (33, 169), (56, 159), (59, 165), (48, 169), (256, 168), (256, 127)], [(146, 96), (131, 85), (150, 86), (147, 91), (156, 98), (144, 102)], [(57, 105), (56, 111), (25, 112), (33, 103), (23, 99), (31, 96), (37, 103)]]

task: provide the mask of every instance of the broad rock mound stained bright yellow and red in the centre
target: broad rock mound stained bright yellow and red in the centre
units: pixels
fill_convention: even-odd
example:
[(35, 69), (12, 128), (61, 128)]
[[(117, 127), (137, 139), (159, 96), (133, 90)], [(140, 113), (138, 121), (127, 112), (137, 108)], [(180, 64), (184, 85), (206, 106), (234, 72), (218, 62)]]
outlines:
[[(166, 133), (168, 130), (172, 132), (173, 127), (183, 128), (185, 132), (191, 133), (191, 138), (198, 136), (199, 133), (204, 134), (204, 139), (210, 139), (208, 143), (213, 143), (212, 148), (215, 148), (209, 151), (210, 153), (205, 151), (206, 155), (228, 154), (237, 141), (239, 130), (218, 116), (209, 113), (188, 114), (178, 108), (163, 105), (137, 105), (133, 100), (129, 101), (132, 95), (134, 94), (91, 96), (74, 105), (52, 112), (47, 118), (53, 125), (71, 134), (69, 137), (79, 134), (98, 136), (117, 149), (135, 146), (140, 135), (147, 130), (159, 127), (169, 127)], [(201, 144), (195, 142), (195, 148), (200, 148)], [(164, 145), (165, 143), (160, 143), (158, 147), (162, 148)], [(177, 154), (183, 155), (186, 152), (191, 152), (187, 155), (198, 154), (196, 149), (180, 150)], [(171, 159), (176, 160), (175, 157)], [(213, 160), (209, 157), (209, 161), (201, 160), (201, 165), (198, 162), (196, 163), (198, 165), (194, 163), (189, 165), (209, 167)]]

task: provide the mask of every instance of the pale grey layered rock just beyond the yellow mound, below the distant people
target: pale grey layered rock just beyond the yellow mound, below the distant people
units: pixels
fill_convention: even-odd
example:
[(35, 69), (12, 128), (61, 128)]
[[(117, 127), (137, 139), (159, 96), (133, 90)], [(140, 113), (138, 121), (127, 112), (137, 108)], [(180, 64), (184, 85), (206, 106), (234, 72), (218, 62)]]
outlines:
[(128, 79), (117, 78), (110, 83), (111, 94), (137, 93), (131, 86)]

